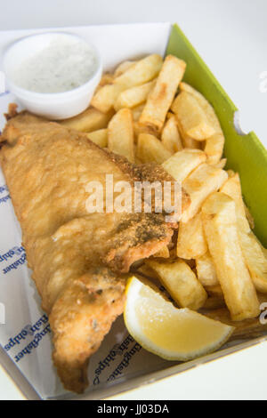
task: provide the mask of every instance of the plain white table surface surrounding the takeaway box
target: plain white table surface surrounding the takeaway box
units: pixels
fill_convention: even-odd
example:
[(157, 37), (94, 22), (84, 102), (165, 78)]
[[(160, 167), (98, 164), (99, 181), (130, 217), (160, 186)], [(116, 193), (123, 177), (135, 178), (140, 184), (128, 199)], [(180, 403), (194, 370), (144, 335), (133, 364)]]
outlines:
[[(177, 22), (238, 106), (243, 131), (267, 147), (266, 0), (0, 0), (0, 10), (1, 30)], [(267, 342), (114, 399), (267, 399), (266, 352)], [(20, 398), (0, 367), (0, 399)]]

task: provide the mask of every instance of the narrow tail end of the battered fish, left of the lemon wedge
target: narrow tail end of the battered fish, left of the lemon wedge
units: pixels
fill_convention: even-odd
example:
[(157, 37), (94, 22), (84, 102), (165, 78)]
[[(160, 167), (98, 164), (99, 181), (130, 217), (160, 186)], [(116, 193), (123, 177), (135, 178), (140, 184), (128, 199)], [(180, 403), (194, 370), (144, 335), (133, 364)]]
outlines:
[(113, 321), (123, 312), (125, 279), (95, 268), (62, 293), (53, 306), (53, 362), (65, 389), (82, 393), (88, 386), (89, 358)]

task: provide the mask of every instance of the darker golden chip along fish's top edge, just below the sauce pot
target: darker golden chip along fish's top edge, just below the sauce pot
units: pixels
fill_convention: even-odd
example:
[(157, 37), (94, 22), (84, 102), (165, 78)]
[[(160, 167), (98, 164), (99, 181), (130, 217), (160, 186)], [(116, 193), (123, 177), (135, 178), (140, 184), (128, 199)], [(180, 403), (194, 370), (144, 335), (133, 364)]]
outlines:
[(114, 111), (112, 110), (109, 113), (104, 114), (100, 110), (88, 108), (84, 112), (77, 115), (77, 117), (70, 117), (69, 119), (64, 119), (58, 122), (68, 128), (91, 133), (98, 129), (106, 128), (113, 115)]

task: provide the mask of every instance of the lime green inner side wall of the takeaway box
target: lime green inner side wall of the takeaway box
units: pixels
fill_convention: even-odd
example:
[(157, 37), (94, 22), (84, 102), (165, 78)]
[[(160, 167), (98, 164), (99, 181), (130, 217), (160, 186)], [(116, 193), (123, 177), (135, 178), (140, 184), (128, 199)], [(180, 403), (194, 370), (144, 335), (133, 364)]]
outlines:
[(172, 28), (166, 54), (186, 61), (184, 81), (195, 87), (213, 105), (225, 135), (227, 168), (240, 175), (243, 197), (255, 220), (255, 235), (266, 247), (267, 150), (255, 133), (240, 135), (237, 132), (234, 116), (238, 109), (177, 25)]

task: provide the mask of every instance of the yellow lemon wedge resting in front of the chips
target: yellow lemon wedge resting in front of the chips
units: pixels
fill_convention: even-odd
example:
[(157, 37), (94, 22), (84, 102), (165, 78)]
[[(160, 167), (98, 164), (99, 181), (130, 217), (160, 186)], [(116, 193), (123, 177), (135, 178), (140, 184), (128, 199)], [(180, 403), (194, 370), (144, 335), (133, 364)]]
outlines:
[(125, 326), (142, 347), (167, 360), (187, 361), (218, 350), (232, 326), (190, 309), (177, 309), (137, 277), (126, 286)]

